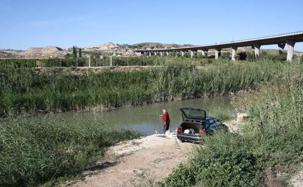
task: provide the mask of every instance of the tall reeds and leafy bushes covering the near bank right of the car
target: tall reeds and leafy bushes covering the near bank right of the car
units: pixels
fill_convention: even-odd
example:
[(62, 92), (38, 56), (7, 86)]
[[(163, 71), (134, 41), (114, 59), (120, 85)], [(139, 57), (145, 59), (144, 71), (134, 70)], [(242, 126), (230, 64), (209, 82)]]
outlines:
[(158, 187), (286, 187), (303, 153), (303, 66), (286, 66), (237, 103), (249, 114), (239, 134), (208, 137), (193, 159)]

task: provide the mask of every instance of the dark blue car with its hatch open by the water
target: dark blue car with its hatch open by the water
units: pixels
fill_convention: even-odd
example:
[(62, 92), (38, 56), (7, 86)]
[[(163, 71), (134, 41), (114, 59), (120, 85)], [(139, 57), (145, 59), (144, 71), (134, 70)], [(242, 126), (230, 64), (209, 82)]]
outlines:
[(180, 141), (200, 142), (206, 135), (212, 135), (219, 129), (227, 130), (227, 126), (219, 119), (206, 117), (206, 111), (196, 107), (180, 108), (183, 122), (177, 128)]

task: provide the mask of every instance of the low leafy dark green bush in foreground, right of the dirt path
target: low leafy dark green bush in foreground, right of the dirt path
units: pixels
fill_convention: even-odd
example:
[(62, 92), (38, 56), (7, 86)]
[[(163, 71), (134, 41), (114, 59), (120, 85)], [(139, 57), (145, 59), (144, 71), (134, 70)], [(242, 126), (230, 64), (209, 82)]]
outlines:
[(241, 144), (236, 145), (239, 140), (241, 137), (223, 132), (207, 137), (204, 148), (199, 148), (192, 160), (187, 164), (180, 164), (157, 186), (261, 186), (261, 170), (257, 166), (256, 157)]

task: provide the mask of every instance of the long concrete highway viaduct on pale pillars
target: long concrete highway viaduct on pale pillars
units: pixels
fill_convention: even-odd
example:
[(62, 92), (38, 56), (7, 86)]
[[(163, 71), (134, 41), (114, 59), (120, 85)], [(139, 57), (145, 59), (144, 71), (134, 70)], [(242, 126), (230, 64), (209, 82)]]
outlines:
[(136, 52), (140, 52), (141, 55), (158, 55), (160, 56), (169, 56), (173, 51), (176, 51), (181, 56), (184, 56), (185, 52), (189, 52), (191, 58), (193, 58), (197, 51), (202, 51), (202, 56), (207, 57), (207, 52), (209, 49), (215, 50), (215, 58), (218, 59), (221, 49), (231, 48), (232, 49), (232, 60), (236, 60), (236, 50), (239, 47), (252, 47), (255, 56), (259, 55), (260, 47), (263, 45), (278, 45), (279, 54), (283, 54), (284, 47), (287, 44), (287, 60), (291, 61), (293, 56), (293, 48), (296, 42), (303, 42), (303, 31), (287, 33), (287, 34), (278, 34), (272, 36), (258, 37), (252, 39), (216, 43), (210, 45), (202, 46), (193, 46), (185, 48), (171, 48), (171, 49), (152, 49), (152, 50), (139, 50), (136, 49)]

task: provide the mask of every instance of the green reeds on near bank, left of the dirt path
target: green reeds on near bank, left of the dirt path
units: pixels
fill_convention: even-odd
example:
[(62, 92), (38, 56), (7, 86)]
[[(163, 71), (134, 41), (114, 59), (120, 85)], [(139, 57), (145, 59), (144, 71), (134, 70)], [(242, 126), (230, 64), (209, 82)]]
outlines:
[(139, 136), (130, 129), (104, 129), (98, 121), (34, 118), (1, 124), (0, 186), (33, 187), (76, 174), (93, 166), (108, 146)]

